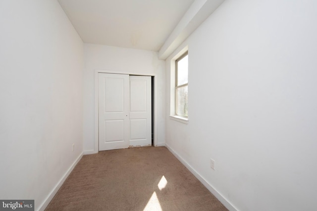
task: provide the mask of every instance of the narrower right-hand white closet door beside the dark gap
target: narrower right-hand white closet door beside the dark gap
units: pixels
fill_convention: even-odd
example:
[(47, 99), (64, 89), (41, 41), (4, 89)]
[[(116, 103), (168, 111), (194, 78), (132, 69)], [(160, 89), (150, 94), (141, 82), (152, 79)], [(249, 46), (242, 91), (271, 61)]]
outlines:
[(151, 76), (130, 76), (130, 146), (152, 145)]

